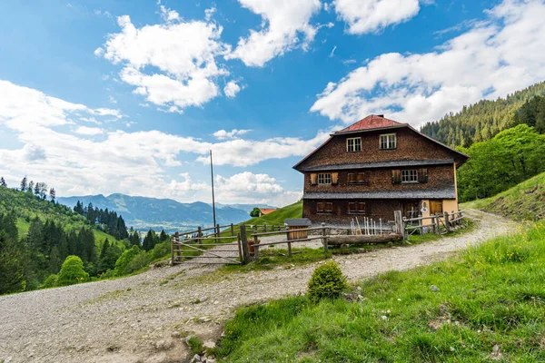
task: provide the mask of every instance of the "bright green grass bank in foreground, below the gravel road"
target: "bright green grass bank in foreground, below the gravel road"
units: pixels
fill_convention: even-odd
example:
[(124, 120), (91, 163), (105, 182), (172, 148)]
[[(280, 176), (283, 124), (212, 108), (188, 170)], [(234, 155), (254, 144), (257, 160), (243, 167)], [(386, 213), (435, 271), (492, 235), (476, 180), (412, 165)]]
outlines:
[[(341, 299), (239, 309), (225, 362), (545, 361), (545, 223), (439, 263), (362, 280)], [(433, 288), (435, 286), (437, 289)]]

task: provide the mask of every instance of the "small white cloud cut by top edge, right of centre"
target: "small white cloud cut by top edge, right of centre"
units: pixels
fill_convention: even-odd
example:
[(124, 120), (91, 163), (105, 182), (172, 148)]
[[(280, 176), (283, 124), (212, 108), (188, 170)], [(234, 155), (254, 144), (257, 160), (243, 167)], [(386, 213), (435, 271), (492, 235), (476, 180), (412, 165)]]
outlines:
[(418, 14), (418, 0), (335, 0), (335, 11), (349, 34), (379, 32)]

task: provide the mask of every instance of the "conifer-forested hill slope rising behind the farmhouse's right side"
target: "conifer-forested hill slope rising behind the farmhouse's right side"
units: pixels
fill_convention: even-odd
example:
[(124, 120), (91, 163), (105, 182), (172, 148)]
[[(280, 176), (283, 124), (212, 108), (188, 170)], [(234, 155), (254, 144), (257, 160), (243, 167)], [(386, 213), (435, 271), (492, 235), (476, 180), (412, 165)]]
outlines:
[(481, 100), (464, 106), (459, 113), (450, 113), (437, 122), (426, 123), (421, 132), (451, 146), (467, 147), (471, 142), (489, 140), (496, 133), (514, 126), (514, 114), (520, 107), (532, 97), (543, 94), (545, 82), (533, 84), (506, 98)]

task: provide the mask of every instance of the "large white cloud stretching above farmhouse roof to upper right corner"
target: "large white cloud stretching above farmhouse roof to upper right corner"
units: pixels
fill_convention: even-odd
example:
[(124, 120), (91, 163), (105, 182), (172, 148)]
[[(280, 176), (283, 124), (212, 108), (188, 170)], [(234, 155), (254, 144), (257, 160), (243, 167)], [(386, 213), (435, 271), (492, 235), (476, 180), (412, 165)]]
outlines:
[(344, 123), (387, 113), (420, 125), (545, 79), (545, 5), (506, 0), (486, 13), (434, 52), (381, 54), (328, 83), (311, 111)]

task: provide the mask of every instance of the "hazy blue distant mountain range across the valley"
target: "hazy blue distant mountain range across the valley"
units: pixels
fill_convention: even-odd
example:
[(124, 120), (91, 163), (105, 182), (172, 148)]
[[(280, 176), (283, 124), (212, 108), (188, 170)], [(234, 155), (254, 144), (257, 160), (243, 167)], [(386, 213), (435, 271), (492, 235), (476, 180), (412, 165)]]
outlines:
[[(166, 232), (173, 232), (213, 225), (212, 206), (202, 201), (181, 203), (171, 199), (134, 197), (119, 193), (107, 197), (102, 194), (59, 197), (57, 201), (71, 208), (74, 208), (77, 201), (81, 201), (84, 206), (93, 203), (94, 207), (117, 211), (123, 216), (128, 227), (132, 226), (138, 231), (153, 228), (158, 231), (164, 229)], [(247, 221), (254, 207), (274, 208), (265, 204), (216, 203), (216, 221), (222, 225)]]

